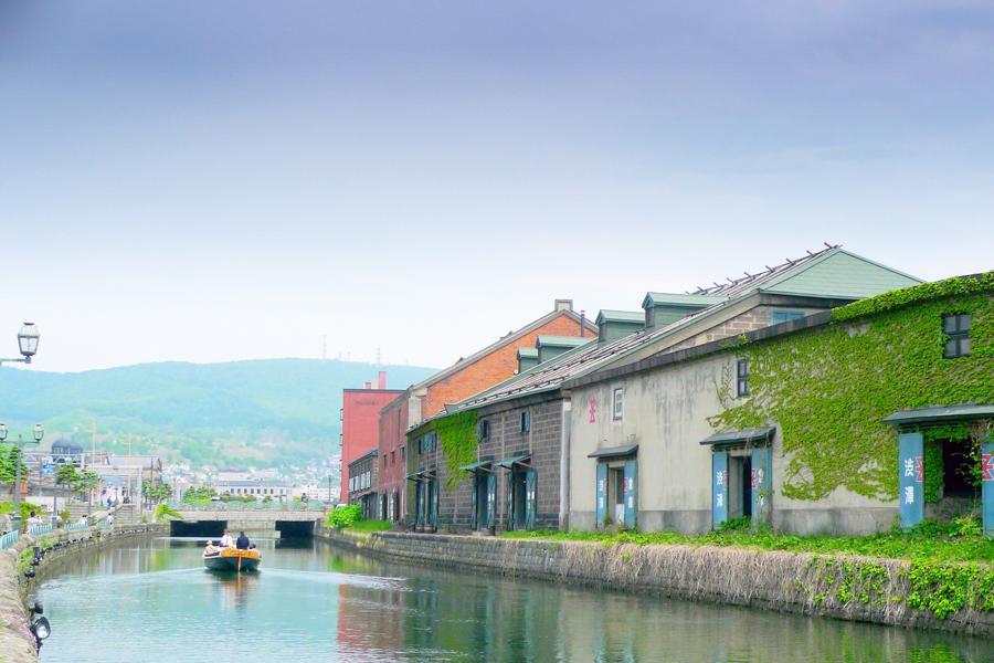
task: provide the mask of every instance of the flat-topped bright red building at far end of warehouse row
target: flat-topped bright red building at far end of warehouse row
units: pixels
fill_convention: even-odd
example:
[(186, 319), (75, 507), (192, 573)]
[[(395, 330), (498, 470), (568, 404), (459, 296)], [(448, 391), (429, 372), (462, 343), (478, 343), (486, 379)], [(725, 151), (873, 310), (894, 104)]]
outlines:
[(380, 371), (377, 388), (367, 382), (364, 389), (341, 390), (341, 497), (348, 499), (349, 463), (377, 448), (380, 410), (395, 399), (402, 389), (387, 389), (387, 373)]

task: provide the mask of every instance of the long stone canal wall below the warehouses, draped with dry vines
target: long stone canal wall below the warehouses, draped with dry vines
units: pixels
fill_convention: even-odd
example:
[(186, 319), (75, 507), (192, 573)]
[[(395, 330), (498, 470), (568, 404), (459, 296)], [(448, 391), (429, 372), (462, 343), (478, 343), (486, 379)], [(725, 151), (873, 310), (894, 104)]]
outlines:
[(419, 565), (994, 635), (994, 612), (963, 608), (938, 619), (908, 606), (909, 562), (897, 559), (392, 532), (359, 536), (322, 529), (319, 535), (339, 546)]

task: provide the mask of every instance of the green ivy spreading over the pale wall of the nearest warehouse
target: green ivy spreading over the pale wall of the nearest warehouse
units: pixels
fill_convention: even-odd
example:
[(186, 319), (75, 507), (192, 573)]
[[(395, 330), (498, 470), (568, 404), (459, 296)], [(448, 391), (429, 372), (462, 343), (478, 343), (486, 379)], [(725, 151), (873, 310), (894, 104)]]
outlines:
[[(992, 293), (994, 273), (950, 278), (837, 308), (827, 326), (743, 343), (750, 397), (732, 398), (732, 380), (723, 380), (725, 411), (710, 422), (718, 430), (780, 424), (787, 497), (819, 499), (845, 487), (893, 499), (897, 434), (881, 419), (907, 408), (994, 402)], [(972, 316), (971, 356), (942, 357), (948, 314)]]

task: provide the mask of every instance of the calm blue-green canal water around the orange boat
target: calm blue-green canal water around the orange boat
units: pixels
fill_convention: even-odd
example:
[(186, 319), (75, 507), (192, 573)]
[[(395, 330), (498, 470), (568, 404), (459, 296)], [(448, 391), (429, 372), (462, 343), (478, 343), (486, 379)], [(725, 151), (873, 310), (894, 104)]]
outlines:
[(991, 661), (970, 636), (384, 564), (260, 540), (263, 570), (203, 541), (123, 541), (39, 589), (42, 661)]

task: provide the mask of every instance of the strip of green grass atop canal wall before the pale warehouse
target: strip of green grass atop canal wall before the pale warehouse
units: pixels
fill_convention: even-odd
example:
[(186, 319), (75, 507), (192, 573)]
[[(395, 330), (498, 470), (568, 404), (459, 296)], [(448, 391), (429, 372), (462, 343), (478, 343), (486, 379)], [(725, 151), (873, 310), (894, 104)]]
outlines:
[(742, 524), (720, 532), (689, 536), (669, 532), (509, 532), (505, 538), (594, 541), (604, 545), (725, 546), (753, 550), (786, 550), (826, 555), (858, 555), (889, 559), (930, 561), (979, 561), (994, 564), (994, 539), (963, 533), (958, 525), (926, 520), (911, 532), (891, 529), (870, 536), (793, 536), (770, 530), (750, 530)]

